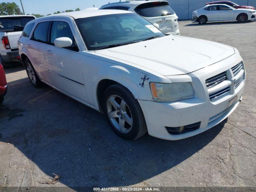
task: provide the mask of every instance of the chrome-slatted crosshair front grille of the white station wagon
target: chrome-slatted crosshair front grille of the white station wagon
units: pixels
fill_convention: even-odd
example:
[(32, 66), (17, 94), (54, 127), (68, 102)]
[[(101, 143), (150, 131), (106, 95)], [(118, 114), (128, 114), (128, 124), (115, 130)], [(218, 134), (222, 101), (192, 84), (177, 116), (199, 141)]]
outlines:
[[(210, 100), (215, 100), (228, 93), (234, 94), (234, 90), (241, 84), (245, 76), (245, 73), (241, 74), (241, 71), (244, 72), (244, 64), (242, 61), (231, 69), (206, 79), (205, 84), (209, 92)], [(236, 76), (240, 77), (238, 78)], [(228, 77), (232, 77), (232, 79), (238, 79), (236, 79), (235, 84), (232, 84), (232, 80)], [(234, 88), (231, 89), (231, 86), (234, 86)]]

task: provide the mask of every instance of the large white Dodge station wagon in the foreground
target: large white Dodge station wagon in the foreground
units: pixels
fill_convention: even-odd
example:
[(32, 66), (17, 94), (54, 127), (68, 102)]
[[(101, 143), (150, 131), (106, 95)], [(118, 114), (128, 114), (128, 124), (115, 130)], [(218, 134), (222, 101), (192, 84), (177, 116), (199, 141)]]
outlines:
[(167, 140), (199, 134), (242, 99), (245, 69), (236, 48), (164, 35), (124, 10), (39, 18), (18, 45), (34, 86), (44, 82), (104, 112), (128, 140), (146, 132)]

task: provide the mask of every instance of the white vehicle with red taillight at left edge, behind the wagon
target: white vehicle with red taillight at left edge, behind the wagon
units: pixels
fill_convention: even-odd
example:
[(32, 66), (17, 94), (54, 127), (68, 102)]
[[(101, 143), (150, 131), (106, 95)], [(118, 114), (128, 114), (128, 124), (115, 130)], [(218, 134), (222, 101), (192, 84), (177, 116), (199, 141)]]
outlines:
[(27, 22), (34, 20), (30, 15), (0, 16), (0, 60), (6, 67), (10, 62), (20, 60), (18, 39)]

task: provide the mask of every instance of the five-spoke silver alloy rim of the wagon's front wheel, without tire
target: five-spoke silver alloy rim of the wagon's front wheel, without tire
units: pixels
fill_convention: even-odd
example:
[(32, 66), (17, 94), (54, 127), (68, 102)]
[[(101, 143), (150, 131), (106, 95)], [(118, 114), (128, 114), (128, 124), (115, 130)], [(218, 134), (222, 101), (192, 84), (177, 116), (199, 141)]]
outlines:
[(112, 125), (121, 133), (132, 130), (132, 114), (126, 102), (117, 95), (110, 95), (106, 102), (108, 118)]

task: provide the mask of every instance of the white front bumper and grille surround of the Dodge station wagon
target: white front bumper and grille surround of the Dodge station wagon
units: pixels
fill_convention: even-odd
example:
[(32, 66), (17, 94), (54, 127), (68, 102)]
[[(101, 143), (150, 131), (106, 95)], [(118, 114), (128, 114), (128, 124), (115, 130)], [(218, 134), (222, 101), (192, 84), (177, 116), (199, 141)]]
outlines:
[[(226, 94), (215, 101), (209, 98), (205, 80), (209, 76), (232, 68), (241, 60), (240, 56), (231, 56), (221, 62), (190, 73), (195, 88), (195, 98), (172, 103), (138, 100), (144, 112), (148, 133), (151, 136), (166, 140), (180, 140), (202, 133), (226, 119), (242, 100), (245, 76), (234, 93)], [(227, 63), (230, 64), (227, 65)], [(184, 134), (170, 134), (166, 129), (166, 127), (187, 126), (198, 122), (200, 122), (198, 129)]]

